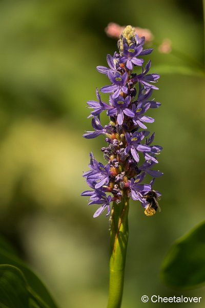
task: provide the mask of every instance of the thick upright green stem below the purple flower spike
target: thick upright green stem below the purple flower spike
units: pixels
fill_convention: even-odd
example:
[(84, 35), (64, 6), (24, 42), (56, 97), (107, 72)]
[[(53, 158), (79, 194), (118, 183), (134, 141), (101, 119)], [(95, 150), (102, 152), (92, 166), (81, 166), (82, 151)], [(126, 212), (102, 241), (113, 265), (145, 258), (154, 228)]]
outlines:
[(110, 232), (110, 284), (107, 308), (120, 308), (121, 306), (129, 234), (128, 211), (129, 198), (127, 196), (119, 204), (113, 202)]

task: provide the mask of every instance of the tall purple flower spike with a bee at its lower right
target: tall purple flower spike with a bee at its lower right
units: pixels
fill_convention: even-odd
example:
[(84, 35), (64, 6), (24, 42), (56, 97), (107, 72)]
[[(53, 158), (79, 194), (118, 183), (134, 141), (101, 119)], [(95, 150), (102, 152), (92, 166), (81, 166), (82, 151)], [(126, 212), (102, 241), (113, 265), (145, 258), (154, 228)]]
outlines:
[[(149, 73), (151, 61), (145, 68), (142, 66), (144, 59), (141, 56), (150, 54), (152, 49), (143, 49), (145, 37), (139, 38), (134, 31), (131, 26), (124, 29), (118, 41), (119, 53), (107, 55), (109, 68), (97, 67), (111, 82), (111, 85), (100, 89), (102, 93), (110, 93), (109, 104), (101, 100), (98, 89), (97, 101), (87, 102), (89, 108), (93, 109), (88, 118), (92, 117), (94, 131), (87, 131), (84, 138), (91, 139), (104, 134), (107, 142), (107, 147), (101, 148), (107, 164), (98, 162), (90, 153), (90, 170), (83, 174), (91, 189), (84, 191), (81, 196), (90, 197), (89, 205), (100, 206), (93, 217), (99, 216), (105, 209), (106, 216), (109, 216), (110, 203), (115, 201), (118, 204), (125, 195), (139, 200), (146, 209), (146, 215), (151, 216), (156, 211), (155, 205), (152, 206), (152, 199), (145, 196), (151, 191), (154, 192), (154, 198), (161, 195), (159, 191), (152, 190), (152, 185), (162, 172), (152, 168), (158, 163), (157, 155), (162, 147), (153, 145), (154, 133), (150, 135), (146, 126), (154, 122), (146, 112), (149, 108), (161, 105), (150, 99), (153, 90), (158, 89), (154, 83), (159, 75)], [(133, 72), (135, 67), (141, 67), (141, 73)], [(100, 122), (100, 113), (103, 111), (107, 112), (110, 120), (105, 126)], [(146, 174), (153, 179), (149, 184), (142, 184)]]

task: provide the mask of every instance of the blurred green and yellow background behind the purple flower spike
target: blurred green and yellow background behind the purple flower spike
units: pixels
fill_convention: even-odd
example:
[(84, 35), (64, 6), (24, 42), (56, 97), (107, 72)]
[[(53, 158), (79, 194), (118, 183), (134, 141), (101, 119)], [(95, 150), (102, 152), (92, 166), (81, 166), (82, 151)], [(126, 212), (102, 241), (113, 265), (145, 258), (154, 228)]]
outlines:
[[(116, 50), (104, 29), (109, 22), (149, 28), (156, 41), (170, 38), (173, 48), (203, 63), (202, 3), (2, 0), (0, 20), (1, 234), (60, 308), (104, 308), (109, 221), (104, 215), (94, 219), (97, 207), (80, 197), (87, 189), (81, 175), (88, 153), (104, 162), (104, 138), (81, 137), (91, 129), (86, 102), (95, 99), (96, 86), (108, 84), (96, 66), (106, 65), (107, 53)], [(144, 307), (142, 295), (204, 296), (204, 288), (173, 291), (158, 275), (173, 241), (205, 216), (204, 79), (175, 73), (192, 66), (186, 57), (156, 48), (151, 59), (151, 72), (161, 75), (154, 98), (162, 106), (149, 111), (155, 122), (148, 129), (164, 148), (164, 176), (154, 187), (162, 193), (162, 211), (149, 218), (138, 202), (131, 203), (122, 308)]]

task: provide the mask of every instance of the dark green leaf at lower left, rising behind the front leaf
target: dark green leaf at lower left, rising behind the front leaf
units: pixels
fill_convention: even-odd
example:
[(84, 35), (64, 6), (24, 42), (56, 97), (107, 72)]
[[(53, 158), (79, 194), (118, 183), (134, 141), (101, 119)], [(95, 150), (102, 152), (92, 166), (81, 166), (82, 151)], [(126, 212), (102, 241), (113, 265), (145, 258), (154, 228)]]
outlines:
[[(17, 268), (15, 271), (22, 273), (23, 277), (25, 277), (25, 281), (28, 282), (28, 290), (33, 297), (38, 298), (38, 301), (42, 303), (39, 307), (49, 307), (49, 308), (56, 308), (56, 304), (54, 303), (53, 299), (51, 298), (49, 292), (47, 291), (44, 284), (40, 281), (40, 279), (24, 264), (22, 260), (20, 260), (17, 255), (13, 253), (13, 249), (10, 247), (9, 244), (6, 244), (6, 241), (0, 237), (0, 264), (10, 264), (12, 266), (16, 266)], [(1, 265), (3, 266), (3, 265)], [(9, 265), (8, 265), (9, 266)], [(12, 267), (11, 266), (11, 267)], [(1, 272), (2, 273), (2, 272)], [(12, 274), (15, 276), (14, 274)], [(16, 274), (17, 275), (17, 274)], [(13, 278), (14, 279), (14, 278)], [(20, 281), (19, 281), (20, 283)], [(1, 288), (2, 286), (0, 286)], [(20, 286), (19, 286), (20, 287)], [(23, 286), (22, 286), (23, 287)], [(14, 287), (14, 291), (17, 294), (18, 290)], [(28, 291), (27, 290), (27, 291)], [(19, 290), (19, 292), (22, 292), (24, 294), (23, 290)], [(38, 294), (38, 296), (37, 296)], [(0, 294), (0, 299), (1, 299)], [(46, 304), (45, 304), (45, 303)], [(39, 303), (38, 303), (39, 305)], [(11, 306), (12, 307), (12, 306)], [(19, 306), (21, 307), (27, 307), (27, 305)], [(38, 307), (36, 306), (36, 303), (34, 302), (31, 307)], [(9, 306), (10, 308), (10, 306)], [(17, 306), (15, 306), (17, 308)]]

